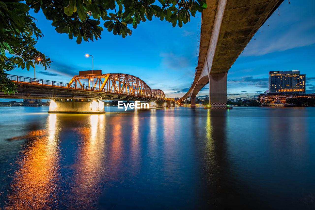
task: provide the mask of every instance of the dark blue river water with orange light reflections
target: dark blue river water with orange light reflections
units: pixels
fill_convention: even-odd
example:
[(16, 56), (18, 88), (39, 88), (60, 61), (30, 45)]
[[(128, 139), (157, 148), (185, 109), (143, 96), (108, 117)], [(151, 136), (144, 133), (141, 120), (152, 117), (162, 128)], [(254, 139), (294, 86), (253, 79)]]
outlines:
[(314, 209), (315, 107), (0, 107), (0, 209)]

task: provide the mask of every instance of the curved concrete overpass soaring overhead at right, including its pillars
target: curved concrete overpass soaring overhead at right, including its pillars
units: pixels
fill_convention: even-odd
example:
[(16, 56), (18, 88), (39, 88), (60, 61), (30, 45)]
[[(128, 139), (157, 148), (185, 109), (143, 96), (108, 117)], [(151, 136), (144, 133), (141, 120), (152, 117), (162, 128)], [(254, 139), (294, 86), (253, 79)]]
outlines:
[(198, 65), (192, 86), (178, 101), (191, 98), (209, 83), (210, 109), (226, 106), (227, 72), (283, 0), (207, 0), (201, 16)]

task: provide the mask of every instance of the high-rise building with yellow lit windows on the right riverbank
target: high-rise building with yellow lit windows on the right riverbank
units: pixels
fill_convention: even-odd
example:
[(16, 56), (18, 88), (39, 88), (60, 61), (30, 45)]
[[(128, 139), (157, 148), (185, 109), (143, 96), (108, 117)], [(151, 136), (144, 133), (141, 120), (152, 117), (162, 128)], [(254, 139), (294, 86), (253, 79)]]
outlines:
[(305, 94), (305, 77), (299, 70), (269, 71), (269, 93)]

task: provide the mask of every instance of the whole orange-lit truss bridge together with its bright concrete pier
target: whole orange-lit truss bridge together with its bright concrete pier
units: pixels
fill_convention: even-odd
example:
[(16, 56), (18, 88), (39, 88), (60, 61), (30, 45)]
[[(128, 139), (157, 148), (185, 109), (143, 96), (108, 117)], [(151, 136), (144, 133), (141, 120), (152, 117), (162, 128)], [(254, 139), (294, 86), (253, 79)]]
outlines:
[(149, 102), (150, 108), (175, 106), (175, 99), (167, 98), (160, 89), (151, 89), (138, 77), (122, 73), (101, 74), (100, 70), (95, 72), (99, 74), (75, 75), (69, 83), (7, 75), (18, 86), (18, 92), (11, 95), (0, 92), (0, 98), (50, 99), (54, 103), (54, 107), (50, 106), (51, 112), (104, 111), (101, 103), (91, 107), (91, 103), (98, 100), (145, 101)]

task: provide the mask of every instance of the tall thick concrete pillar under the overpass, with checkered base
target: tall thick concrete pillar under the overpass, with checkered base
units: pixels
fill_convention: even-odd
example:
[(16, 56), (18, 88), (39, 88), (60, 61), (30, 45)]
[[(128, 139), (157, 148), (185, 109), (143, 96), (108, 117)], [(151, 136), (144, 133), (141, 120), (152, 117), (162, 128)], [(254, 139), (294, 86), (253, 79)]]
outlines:
[(209, 74), (209, 107), (205, 109), (232, 109), (226, 105), (227, 90), (226, 90), (227, 73)]

